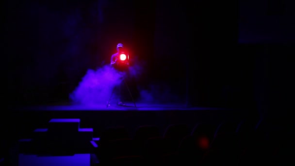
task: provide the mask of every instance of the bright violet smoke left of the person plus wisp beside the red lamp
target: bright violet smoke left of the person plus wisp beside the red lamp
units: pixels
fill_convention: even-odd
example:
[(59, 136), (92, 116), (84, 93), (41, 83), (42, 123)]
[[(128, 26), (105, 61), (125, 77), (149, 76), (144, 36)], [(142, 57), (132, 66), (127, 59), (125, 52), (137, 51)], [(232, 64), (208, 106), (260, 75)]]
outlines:
[[(131, 62), (134, 65), (129, 67), (127, 73), (120, 72), (110, 65), (104, 65), (97, 70), (88, 69), (79, 85), (70, 94), (72, 103), (88, 106), (106, 105), (111, 96), (111, 104), (117, 102), (119, 100), (118, 90), (115, 89), (113, 92), (113, 89), (122, 83), (123, 77), (137, 82), (144, 73), (145, 65), (143, 63), (139, 62), (137, 58), (132, 59)], [(136, 86), (135, 89), (137, 88), (136, 83), (132, 85)], [(131, 87), (130, 89), (132, 90)], [(132, 93), (134, 93), (134, 90)]]

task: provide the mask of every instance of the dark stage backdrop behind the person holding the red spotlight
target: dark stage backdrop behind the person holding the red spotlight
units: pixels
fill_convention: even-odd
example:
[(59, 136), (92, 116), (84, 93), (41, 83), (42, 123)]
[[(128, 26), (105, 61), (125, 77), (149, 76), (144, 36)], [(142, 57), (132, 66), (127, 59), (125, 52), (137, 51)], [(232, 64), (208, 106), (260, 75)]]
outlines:
[(8, 105), (67, 101), (120, 42), (146, 63), (142, 87), (168, 88), (188, 106), (285, 115), (294, 110), (292, 3), (7, 1)]

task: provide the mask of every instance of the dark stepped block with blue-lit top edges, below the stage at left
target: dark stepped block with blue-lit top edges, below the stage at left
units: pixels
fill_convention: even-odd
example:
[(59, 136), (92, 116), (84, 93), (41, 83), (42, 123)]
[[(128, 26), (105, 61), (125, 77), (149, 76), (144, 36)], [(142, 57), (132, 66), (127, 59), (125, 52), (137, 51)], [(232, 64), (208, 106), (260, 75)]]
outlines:
[(71, 155), (90, 152), (92, 140), (93, 129), (80, 128), (80, 119), (53, 118), (48, 128), (33, 131), (29, 153)]

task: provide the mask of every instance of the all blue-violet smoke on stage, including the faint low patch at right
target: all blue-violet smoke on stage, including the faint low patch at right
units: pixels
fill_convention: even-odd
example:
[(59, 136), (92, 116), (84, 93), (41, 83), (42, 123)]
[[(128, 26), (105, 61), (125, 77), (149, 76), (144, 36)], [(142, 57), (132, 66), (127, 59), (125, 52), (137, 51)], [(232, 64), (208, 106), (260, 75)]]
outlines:
[[(70, 94), (74, 104), (82, 105), (106, 105), (111, 99), (111, 105), (119, 100), (117, 93), (112, 91), (116, 85), (122, 83), (122, 77), (133, 83), (129, 84), (133, 98), (136, 96), (137, 103), (171, 103), (178, 102), (180, 98), (175, 95), (173, 88), (167, 83), (147, 82), (146, 64), (133, 59), (134, 65), (129, 67), (129, 72), (119, 72), (110, 65), (105, 65), (97, 70), (89, 69), (77, 88)], [(132, 87), (131, 87), (131, 86)], [(136, 95), (137, 94), (137, 95)], [(128, 96), (128, 92), (125, 93)], [(129, 97), (129, 96), (128, 96)], [(131, 101), (131, 100), (129, 100)]]

